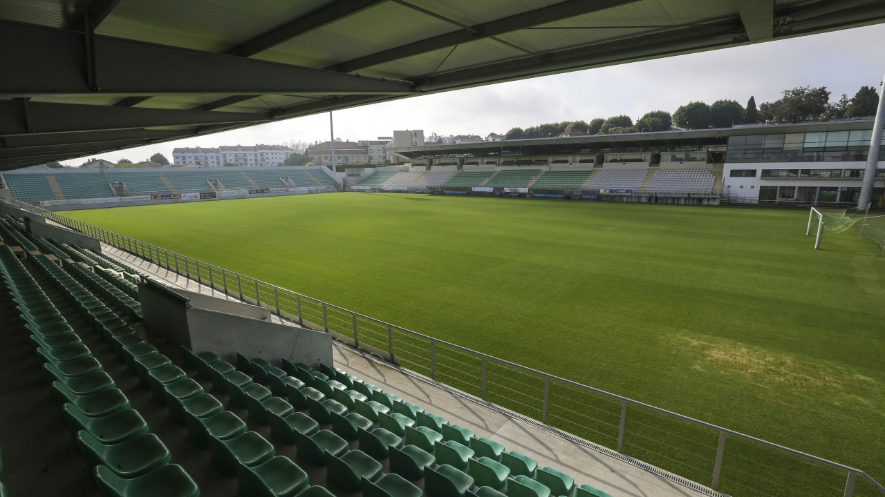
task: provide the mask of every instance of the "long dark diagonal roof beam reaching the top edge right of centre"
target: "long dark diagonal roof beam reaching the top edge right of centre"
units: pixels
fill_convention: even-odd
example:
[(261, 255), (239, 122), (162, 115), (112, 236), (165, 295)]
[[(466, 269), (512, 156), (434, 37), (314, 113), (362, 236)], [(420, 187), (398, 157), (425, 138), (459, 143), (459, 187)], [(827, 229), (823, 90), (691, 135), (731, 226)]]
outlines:
[(519, 29), (548, 24), (596, 11), (604, 11), (613, 7), (620, 7), (621, 5), (633, 4), (636, 1), (638, 0), (567, 0), (566, 2), (535, 9), (534, 11), (526, 11), (504, 19), (496, 19), (451, 33), (440, 34), (394, 49), (382, 50), (366, 57), (358, 57), (347, 62), (330, 65), (327, 69), (341, 73), (352, 73), (358, 69), (383, 64), (391, 60), (412, 57), (429, 51), (444, 49), (452, 45), (473, 42), (498, 34), (510, 33)]

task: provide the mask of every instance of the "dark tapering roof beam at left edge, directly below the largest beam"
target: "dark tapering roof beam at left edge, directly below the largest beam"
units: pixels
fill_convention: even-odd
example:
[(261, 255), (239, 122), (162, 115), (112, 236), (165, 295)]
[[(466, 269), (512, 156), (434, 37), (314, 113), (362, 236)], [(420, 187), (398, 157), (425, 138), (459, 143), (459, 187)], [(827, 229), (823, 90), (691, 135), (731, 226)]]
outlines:
[(157, 126), (200, 126), (217, 123), (266, 122), (264, 114), (178, 111), (112, 105), (0, 102), (0, 136), (72, 133)]

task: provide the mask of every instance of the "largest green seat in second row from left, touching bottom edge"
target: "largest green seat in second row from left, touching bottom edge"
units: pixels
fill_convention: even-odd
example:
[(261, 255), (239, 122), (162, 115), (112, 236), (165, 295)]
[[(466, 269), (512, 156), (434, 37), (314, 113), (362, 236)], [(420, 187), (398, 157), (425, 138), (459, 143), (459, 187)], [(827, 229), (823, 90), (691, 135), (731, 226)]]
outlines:
[(277, 455), (255, 467), (236, 468), (242, 497), (291, 497), (307, 487), (307, 473), (289, 457)]

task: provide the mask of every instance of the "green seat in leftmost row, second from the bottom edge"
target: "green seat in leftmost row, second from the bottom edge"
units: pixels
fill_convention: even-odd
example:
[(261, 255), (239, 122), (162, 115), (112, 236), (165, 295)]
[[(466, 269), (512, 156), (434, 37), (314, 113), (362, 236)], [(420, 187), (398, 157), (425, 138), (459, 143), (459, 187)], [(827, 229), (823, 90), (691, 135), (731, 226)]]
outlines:
[(89, 474), (103, 465), (120, 478), (137, 478), (172, 461), (172, 454), (157, 435), (142, 433), (112, 445), (105, 445), (91, 433), (77, 432), (77, 443), (86, 459)]

